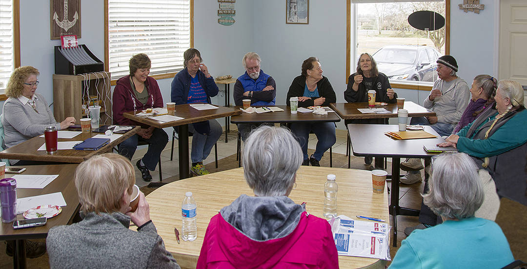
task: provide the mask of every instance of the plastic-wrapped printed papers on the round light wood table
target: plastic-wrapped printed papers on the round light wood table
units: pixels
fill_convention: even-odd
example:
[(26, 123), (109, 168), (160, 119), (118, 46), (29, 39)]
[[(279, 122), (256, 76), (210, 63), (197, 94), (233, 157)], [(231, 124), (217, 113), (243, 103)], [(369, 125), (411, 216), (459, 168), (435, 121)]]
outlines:
[(388, 224), (344, 215), (331, 219), (330, 223), (338, 255), (391, 260)]

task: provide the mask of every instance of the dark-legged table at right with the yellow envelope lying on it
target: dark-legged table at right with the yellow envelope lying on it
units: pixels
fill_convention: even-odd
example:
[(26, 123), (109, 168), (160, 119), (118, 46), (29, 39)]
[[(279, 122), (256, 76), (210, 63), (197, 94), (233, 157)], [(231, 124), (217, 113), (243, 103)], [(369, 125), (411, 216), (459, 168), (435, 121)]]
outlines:
[(425, 166), (427, 166), (430, 164), (430, 158), (437, 153), (428, 153), (423, 149), (423, 146), (435, 147), (438, 143), (445, 141), (430, 126), (425, 126), (425, 131), (437, 136), (437, 138), (396, 140), (384, 135), (385, 132), (398, 130), (398, 125), (348, 124), (348, 133), (352, 141), (354, 155), (392, 158), (392, 197), (389, 209), (390, 214), (394, 216), (394, 247), (397, 246), (397, 215), (419, 215), (419, 210), (399, 206), (399, 165), (401, 158), (425, 158)]

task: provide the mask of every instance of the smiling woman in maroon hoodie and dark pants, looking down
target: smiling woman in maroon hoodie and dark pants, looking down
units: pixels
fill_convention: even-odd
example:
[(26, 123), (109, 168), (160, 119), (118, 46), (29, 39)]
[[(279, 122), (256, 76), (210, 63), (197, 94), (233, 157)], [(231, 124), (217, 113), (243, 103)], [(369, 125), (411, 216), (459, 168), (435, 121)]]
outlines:
[[(147, 153), (135, 164), (144, 181), (151, 181), (150, 171), (155, 170), (161, 151), (168, 142), (168, 135), (162, 129), (154, 128), (123, 117), (124, 112), (141, 111), (148, 108), (162, 108), (163, 97), (158, 82), (148, 76), (151, 61), (147, 54), (135, 54), (130, 59), (130, 75), (117, 81), (113, 90), (113, 123), (139, 125), (136, 135), (119, 144), (119, 154), (132, 159), (139, 141), (149, 143)], [(150, 170), (150, 171), (149, 171)]]

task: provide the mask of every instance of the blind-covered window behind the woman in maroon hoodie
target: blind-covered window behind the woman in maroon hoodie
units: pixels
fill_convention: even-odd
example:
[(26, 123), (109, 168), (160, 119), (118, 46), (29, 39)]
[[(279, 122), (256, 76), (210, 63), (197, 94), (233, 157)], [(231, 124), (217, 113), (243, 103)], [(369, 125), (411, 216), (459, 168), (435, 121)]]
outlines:
[[(145, 53), (154, 78), (183, 69), (183, 52), (192, 45), (192, 0), (105, 0), (105, 65), (112, 82), (129, 74), (128, 61)], [(113, 84), (112, 83), (112, 84)]]

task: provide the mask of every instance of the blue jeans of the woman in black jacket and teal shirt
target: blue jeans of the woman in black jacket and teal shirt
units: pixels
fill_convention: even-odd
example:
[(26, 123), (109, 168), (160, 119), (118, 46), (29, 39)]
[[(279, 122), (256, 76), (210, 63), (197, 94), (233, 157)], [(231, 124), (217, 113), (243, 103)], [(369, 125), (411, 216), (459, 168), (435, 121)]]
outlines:
[(309, 140), (309, 132), (313, 131), (317, 136), (318, 142), (313, 157), (317, 160), (322, 159), (324, 152), (335, 144), (335, 123), (333, 122), (319, 122), (319, 123), (291, 123), (291, 132), (300, 143), (302, 152), (304, 153), (304, 160), (309, 158), (307, 156), (307, 142)]

